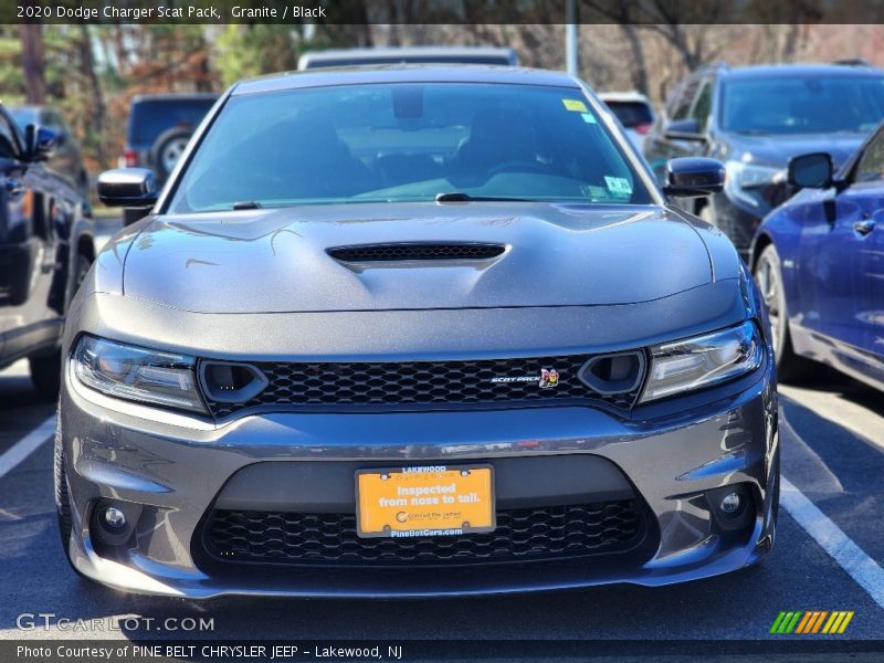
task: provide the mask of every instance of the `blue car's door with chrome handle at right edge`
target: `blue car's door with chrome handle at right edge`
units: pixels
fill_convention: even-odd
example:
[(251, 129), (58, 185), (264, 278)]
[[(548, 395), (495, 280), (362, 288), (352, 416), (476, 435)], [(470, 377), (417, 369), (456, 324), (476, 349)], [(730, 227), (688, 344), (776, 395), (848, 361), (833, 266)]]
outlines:
[(884, 129), (866, 141), (848, 180), (802, 222), (802, 325), (838, 344), (854, 369), (876, 371), (861, 356), (884, 358)]

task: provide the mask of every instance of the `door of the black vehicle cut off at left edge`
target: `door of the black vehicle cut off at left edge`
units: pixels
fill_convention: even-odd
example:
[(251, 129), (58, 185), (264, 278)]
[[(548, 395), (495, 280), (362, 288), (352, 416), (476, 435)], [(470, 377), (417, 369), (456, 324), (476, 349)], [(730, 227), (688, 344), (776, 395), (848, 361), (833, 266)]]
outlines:
[(42, 178), (42, 167), (23, 162), (21, 135), (0, 110), (0, 330), (7, 359), (59, 333), (51, 308), (55, 229)]

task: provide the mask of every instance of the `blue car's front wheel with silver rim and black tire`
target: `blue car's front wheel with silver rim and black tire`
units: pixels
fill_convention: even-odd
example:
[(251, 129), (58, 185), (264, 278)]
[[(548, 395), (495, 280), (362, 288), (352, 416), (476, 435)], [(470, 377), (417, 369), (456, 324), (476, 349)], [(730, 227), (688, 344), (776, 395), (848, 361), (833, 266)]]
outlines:
[(806, 379), (813, 362), (794, 354), (789, 336), (789, 315), (786, 307), (786, 293), (782, 287), (780, 256), (774, 244), (768, 244), (755, 263), (755, 282), (761, 291), (770, 318), (774, 337), (774, 356), (777, 361), (777, 378), (782, 382)]

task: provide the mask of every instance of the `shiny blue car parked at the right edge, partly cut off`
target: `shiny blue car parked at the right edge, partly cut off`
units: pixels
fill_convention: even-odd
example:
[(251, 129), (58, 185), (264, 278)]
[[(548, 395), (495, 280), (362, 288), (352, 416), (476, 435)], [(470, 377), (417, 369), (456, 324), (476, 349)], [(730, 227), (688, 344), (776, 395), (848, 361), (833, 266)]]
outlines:
[(800, 191), (768, 214), (751, 251), (779, 377), (821, 361), (884, 389), (884, 124), (838, 171), (814, 152), (793, 158), (787, 178)]

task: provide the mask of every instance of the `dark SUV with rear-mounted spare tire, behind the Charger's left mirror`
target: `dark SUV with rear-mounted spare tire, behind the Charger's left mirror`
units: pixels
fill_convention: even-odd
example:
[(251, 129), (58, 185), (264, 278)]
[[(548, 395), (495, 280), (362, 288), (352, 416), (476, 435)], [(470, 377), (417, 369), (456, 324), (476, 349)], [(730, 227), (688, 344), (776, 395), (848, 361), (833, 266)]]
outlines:
[(151, 94), (133, 98), (119, 165), (149, 168), (162, 187), (193, 129), (218, 101), (213, 93)]

